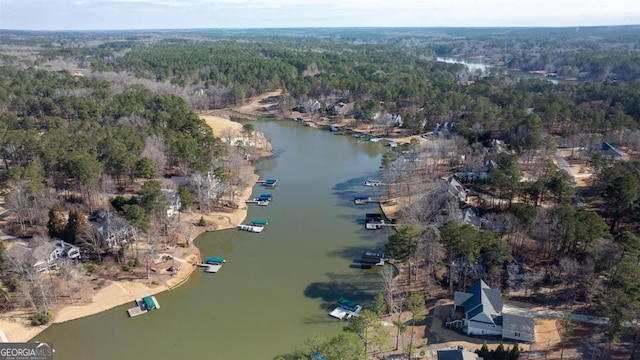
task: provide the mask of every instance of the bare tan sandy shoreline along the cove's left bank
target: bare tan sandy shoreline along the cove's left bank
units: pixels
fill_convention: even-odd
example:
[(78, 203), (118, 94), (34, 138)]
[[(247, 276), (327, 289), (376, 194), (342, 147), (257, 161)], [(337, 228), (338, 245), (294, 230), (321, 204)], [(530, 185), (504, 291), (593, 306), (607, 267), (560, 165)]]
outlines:
[[(211, 127), (216, 136), (222, 136), (227, 129), (239, 130), (242, 125), (225, 119), (220, 116), (201, 116), (207, 125)], [(254, 174), (253, 181), (255, 184), (258, 175)], [(253, 191), (253, 186), (247, 186), (242, 189), (240, 198), (248, 199)], [(185, 214), (183, 214), (185, 216)], [(186, 215), (191, 222), (197, 222), (200, 214)], [(203, 216), (207, 222), (207, 227), (194, 226), (191, 230), (191, 239), (195, 239), (198, 235), (205, 231), (224, 230), (235, 227), (242, 223), (247, 217), (247, 207), (242, 206), (233, 212), (212, 212)], [(198, 251), (199, 253), (199, 251)], [(198, 261), (198, 255), (191, 255), (184, 259), (185, 263), (176, 276), (167, 280), (160, 285), (147, 285), (146, 281), (109, 281), (108, 285), (96, 291), (89, 303), (82, 305), (65, 306), (58, 310), (52, 321), (52, 324), (71, 321), (87, 316), (91, 316), (114, 307), (131, 303), (143, 296), (158, 294), (163, 291), (171, 290), (175, 286), (179, 286), (186, 281), (193, 270), (196, 268), (195, 263)], [(24, 311), (14, 311), (2, 314), (0, 317), (0, 342), (26, 342), (33, 339), (39, 333), (44, 331), (48, 326), (34, 327), (29, 324), (29, 314)]]

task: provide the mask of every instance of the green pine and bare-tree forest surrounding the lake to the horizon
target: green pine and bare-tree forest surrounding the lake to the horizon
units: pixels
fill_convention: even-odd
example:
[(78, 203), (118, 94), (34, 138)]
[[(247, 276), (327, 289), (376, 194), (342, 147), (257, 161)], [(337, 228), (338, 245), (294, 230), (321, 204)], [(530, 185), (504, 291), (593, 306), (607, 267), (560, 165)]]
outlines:
[[(433, 300), (483, 278), (529, 301), (606, 316), (591, 358), (613, 356), (616, 344), (635, 352), (640, 331), (628, 320), (640, 313), (638, 30), (0, 31), (0, 175), (15, 215), (5, 231), (63, 238), (92, 261), (120, 261), (120, 250), (83, 235), (81, 219), (112, 206), (138, 232), (151, 231), (167, 206), (154, 181), (166, 175), (202, 185), (211, 174), (220, 189), (213, 198), (200, 185), (179, 193), (184, 207), (215, 204), (243, 181), (224, 159), (248, 150), (226, 146), (195, 112), (281, 89), (281, 118), (317, 101), (305, 110), (312, 116), (383, 127), (399, 116), (385, 132), (433, 138), (382, 159), (387, 196), (408, 199), (397, 214), (408, 225), (387, 245), (406, 273), (367, 316), (407, 309), (407, 289)], [(470, 71), (438, 56), (493, 67)], [(337, 114), (339, 103), (349, 111)], [(625, 156), (603, 153), (604, 143)], [(560, 166), (562, 149), (593, 174), (589, 181), (578, 186)], [(461, 206), (434, 191), (444, 175), (473, 200)], [(148, 181), (123, 197), (139, 179)], [(482, 224), (460, 220), (468, 208)], [(4, 297), (24, 293), (28, 279), (0, 260)], [(454, 265), (462, 263), (469, 266)], [(508, 264), (519, 264), (524, 280), (509, 279)], [(31, 286), (40, 310), (48, 301)], [(405, 298), (394, 300), (398, 294)], [(365, 343), (367, 316), (358, 321), (369, 325), (347, 331)], [(311, 356), (307, 350), (298, 355)]]

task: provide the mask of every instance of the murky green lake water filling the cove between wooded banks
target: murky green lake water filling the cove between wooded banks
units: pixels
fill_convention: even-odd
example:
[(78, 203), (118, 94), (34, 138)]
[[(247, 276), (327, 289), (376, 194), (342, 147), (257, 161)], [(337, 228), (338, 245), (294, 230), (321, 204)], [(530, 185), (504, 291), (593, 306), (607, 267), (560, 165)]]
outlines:
[(123, 305), (51, 326), (36, 337), (52, 342), (56, 359), (272, 359), (293, 351), (310, 333), (337, 334), (344, 322), (328, 315), (341, 297), (366, 303), (379, 292), (376, 269), (354, 260), (381, 249), (390, 230), (365, 230), (377, 205), (353, 205), (376, 196), (362, 186), (378, 178), (382, 144), (311, 129), (294, 122), (260, 122), (276, 156), (258, 164), (253, 196), (272, 193), (248, 219), (267, 220), (260, 234), (225, 230), (198, 237), (203, 257), (222, 256), (217, 274), (196, 269), (179, 288), (156, 295), (161, 308), (129, 318)]

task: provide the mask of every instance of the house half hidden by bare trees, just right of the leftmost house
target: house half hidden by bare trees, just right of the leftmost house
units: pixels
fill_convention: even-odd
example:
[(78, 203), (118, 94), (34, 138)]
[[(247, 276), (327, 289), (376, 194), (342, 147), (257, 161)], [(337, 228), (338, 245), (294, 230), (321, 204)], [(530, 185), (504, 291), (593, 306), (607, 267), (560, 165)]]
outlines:
[(103, 246), (124, 245), (136, 237), (136, 229), (125, 219), (107, 210), (98, 210), (90, 219), (96, 238)]

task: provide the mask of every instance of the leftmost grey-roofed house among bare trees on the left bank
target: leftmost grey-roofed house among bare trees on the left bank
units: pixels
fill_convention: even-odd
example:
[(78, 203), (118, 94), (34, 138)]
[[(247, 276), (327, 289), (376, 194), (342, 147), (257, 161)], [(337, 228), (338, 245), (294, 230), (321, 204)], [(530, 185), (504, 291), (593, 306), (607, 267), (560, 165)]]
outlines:
[(47, 241), (35, 248), (17, 244), (7, 250), (7, 256), (40, 272), (80, 259), (80, 248), (62, 240)]

